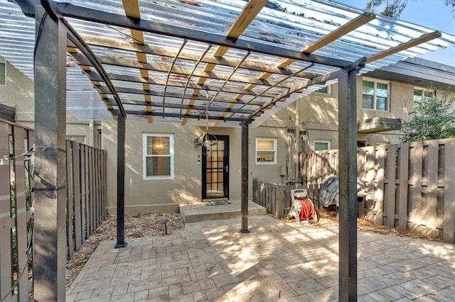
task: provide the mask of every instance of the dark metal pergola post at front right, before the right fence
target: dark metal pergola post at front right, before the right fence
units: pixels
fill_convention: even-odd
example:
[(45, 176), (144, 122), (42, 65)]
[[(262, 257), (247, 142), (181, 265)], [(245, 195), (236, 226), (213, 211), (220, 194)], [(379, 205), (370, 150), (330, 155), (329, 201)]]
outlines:
[(340, 301), (357, 301), (357, 73), (338, 78)]

